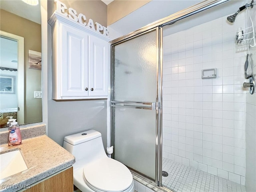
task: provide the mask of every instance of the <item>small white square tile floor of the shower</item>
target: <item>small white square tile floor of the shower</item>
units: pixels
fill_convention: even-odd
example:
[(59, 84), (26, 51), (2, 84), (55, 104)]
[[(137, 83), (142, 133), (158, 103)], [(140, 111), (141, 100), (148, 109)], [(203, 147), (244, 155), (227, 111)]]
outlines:
[(162, 185), (175, 192), (246, 192), (243, 185), (163, 158)]

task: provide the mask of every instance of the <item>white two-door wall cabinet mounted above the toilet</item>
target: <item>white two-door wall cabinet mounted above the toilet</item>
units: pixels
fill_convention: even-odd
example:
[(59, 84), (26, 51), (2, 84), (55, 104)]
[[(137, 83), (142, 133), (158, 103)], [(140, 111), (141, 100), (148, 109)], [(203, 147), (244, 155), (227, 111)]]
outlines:
[(68, 18), (51, 18), (49, 24), (53, 39), (52, 99), (108, 98), (108, 39)]

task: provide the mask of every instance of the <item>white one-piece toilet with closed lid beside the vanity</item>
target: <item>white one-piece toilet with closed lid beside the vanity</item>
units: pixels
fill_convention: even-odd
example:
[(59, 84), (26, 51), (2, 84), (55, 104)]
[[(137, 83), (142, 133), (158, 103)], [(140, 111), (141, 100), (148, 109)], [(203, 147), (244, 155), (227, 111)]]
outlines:
[(108, 158), (100, 132), (88, 130), (66, 136), (63, 147), (76, 158), (74, 185), (82, 192), (134, 192), (130, 170)]

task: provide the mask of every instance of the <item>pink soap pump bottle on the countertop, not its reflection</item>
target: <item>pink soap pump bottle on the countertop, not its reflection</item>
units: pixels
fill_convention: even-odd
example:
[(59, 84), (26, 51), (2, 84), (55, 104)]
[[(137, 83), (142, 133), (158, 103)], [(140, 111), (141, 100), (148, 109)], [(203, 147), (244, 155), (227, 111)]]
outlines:
[(16, 119), (13, 119), (9, 127), (8, 146), (20, 145), (21, 142), (20, 126)]

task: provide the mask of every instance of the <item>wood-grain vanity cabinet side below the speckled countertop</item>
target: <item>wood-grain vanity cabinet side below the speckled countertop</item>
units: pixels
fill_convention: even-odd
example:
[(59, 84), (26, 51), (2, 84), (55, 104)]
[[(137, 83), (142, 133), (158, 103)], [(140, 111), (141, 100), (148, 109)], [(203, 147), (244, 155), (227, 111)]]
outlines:
[(49, 176), (42, 182), (31, 186), (31, 188), (24, 190), (24, 192), (73, 192), (73, 167), (70, 167), (58, 174)]

